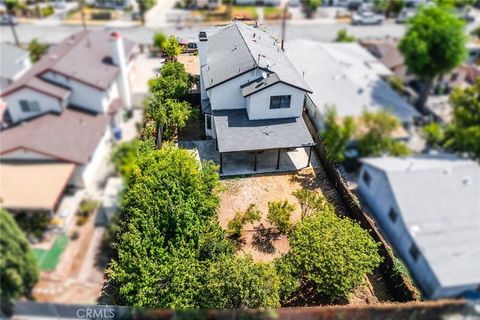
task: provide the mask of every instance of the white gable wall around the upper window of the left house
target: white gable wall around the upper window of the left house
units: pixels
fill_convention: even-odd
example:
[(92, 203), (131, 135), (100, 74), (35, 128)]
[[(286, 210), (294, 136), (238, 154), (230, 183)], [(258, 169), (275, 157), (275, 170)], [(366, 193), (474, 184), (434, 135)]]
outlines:
[[(61, 101), (44, 93), (22, 88), (3, 98), (8, 107), (12, 122), (22, 121), (49, 111), (61, 111)], [(39, 112), (23, 112), (20, 108), (20, 100), (38, 101)]]

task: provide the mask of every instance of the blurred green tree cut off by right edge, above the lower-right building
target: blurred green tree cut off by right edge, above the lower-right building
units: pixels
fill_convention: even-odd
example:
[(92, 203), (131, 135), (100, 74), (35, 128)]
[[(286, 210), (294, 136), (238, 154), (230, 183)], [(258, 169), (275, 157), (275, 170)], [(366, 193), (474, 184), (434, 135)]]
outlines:
[(446, 128), (445, 147), (480, 159), (480, 79), (471, 87), (455, 89), (450, 104), (453, 120)]

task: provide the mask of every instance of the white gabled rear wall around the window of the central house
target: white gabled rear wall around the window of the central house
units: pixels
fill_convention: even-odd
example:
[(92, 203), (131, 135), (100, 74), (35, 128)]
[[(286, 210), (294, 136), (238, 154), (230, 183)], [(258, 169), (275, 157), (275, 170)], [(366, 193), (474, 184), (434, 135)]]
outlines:
[[(270, 109), (270, 97), (291, 95), (290, 108)], [(302, 115), (305, 92), (277, 83), (248, 97), (247, 112), (250, 120), (299, 117)]]

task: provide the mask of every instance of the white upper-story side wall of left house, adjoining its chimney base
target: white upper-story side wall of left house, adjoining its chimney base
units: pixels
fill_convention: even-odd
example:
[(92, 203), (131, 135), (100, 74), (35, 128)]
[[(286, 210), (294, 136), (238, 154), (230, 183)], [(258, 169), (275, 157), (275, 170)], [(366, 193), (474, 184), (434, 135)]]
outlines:
[(72, 93), (69, 97), (69, 103), (89, 111), (105, 113), (110, 102), (118, 98), (116, 81), (110, 85), (109, 90), (103, 91), (51, 71), (45, 73), (42, 77), (71, 88)]

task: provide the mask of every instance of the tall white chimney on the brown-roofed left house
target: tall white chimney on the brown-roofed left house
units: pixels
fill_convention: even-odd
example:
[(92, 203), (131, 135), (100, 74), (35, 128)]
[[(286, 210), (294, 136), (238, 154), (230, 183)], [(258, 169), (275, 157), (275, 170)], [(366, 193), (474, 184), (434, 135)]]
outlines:
[(125, 49), (123, 47), (123, 39), (119, 32), (110, 34), (110, 42), (112, 44), (112, 63), (119, 67), (118, 89), (124, 106), (131, 110), (132, 98), (130, 95), (130, 83), (128, 81), (127, 61), (125, 58)]

